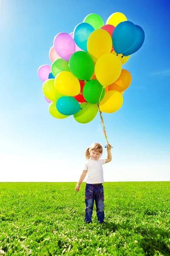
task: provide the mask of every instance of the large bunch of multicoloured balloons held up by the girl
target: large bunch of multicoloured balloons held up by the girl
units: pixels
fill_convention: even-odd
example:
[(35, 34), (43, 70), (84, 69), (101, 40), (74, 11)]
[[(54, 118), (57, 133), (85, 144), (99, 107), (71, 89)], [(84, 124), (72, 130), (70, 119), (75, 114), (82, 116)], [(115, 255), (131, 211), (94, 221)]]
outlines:
[(99, 15), (90, 14), (74, 32), (57, 34), (49, 51), (51, 66), (38, 69), (50, 114), (58, 119), (73, 115), (77, 122), (88, 123), (98, 110), (118, 111), (131, 83), (122, 65), (143, 42), (143, 29), (119, 12), (105, 25)]

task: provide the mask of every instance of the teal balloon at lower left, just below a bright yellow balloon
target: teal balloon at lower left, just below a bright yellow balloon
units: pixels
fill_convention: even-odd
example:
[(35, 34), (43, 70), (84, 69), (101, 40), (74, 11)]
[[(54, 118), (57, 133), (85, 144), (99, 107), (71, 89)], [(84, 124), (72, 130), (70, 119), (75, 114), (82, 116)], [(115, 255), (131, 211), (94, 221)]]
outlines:
[(56, 108), (59, 113), (65, 116), (71, 116), (80, 110), (79, 102), (70, 96), (62, 96), (56, 102)]

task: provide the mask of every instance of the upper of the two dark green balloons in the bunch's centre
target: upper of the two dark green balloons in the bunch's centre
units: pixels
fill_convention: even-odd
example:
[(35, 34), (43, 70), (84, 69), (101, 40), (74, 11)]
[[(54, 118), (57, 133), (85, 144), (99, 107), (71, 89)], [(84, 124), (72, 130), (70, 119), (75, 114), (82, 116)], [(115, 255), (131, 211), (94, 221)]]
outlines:
[(69, 60), (71, 73), (80, 80), (89, 80), (94, 73), (94, 61), (87, 52), (75, 52)]

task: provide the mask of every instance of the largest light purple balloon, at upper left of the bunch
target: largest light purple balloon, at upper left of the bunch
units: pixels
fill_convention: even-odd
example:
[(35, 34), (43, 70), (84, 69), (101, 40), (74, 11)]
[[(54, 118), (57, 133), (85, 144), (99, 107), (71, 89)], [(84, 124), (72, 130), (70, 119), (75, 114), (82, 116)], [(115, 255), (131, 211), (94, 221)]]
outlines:
[(67, 33), (59, 33), (54, 38), (54, 49), (65, 61), (69, 61), (69, 58), (76, 50), (74, 39)]

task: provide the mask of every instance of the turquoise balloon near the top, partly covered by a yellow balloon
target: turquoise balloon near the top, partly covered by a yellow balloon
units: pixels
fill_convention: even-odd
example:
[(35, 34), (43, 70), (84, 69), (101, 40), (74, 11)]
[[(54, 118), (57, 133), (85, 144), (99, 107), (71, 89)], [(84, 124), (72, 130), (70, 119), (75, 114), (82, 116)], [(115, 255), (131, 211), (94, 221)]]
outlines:
[(84, 50), (85, 52), (88, 52), (87, 50), (87, 41), (89, 35), (94, 31), (94, 27), (86, 22), (79, 23), (73, 33), (74, 41), (77, 44), (77, 46)]

